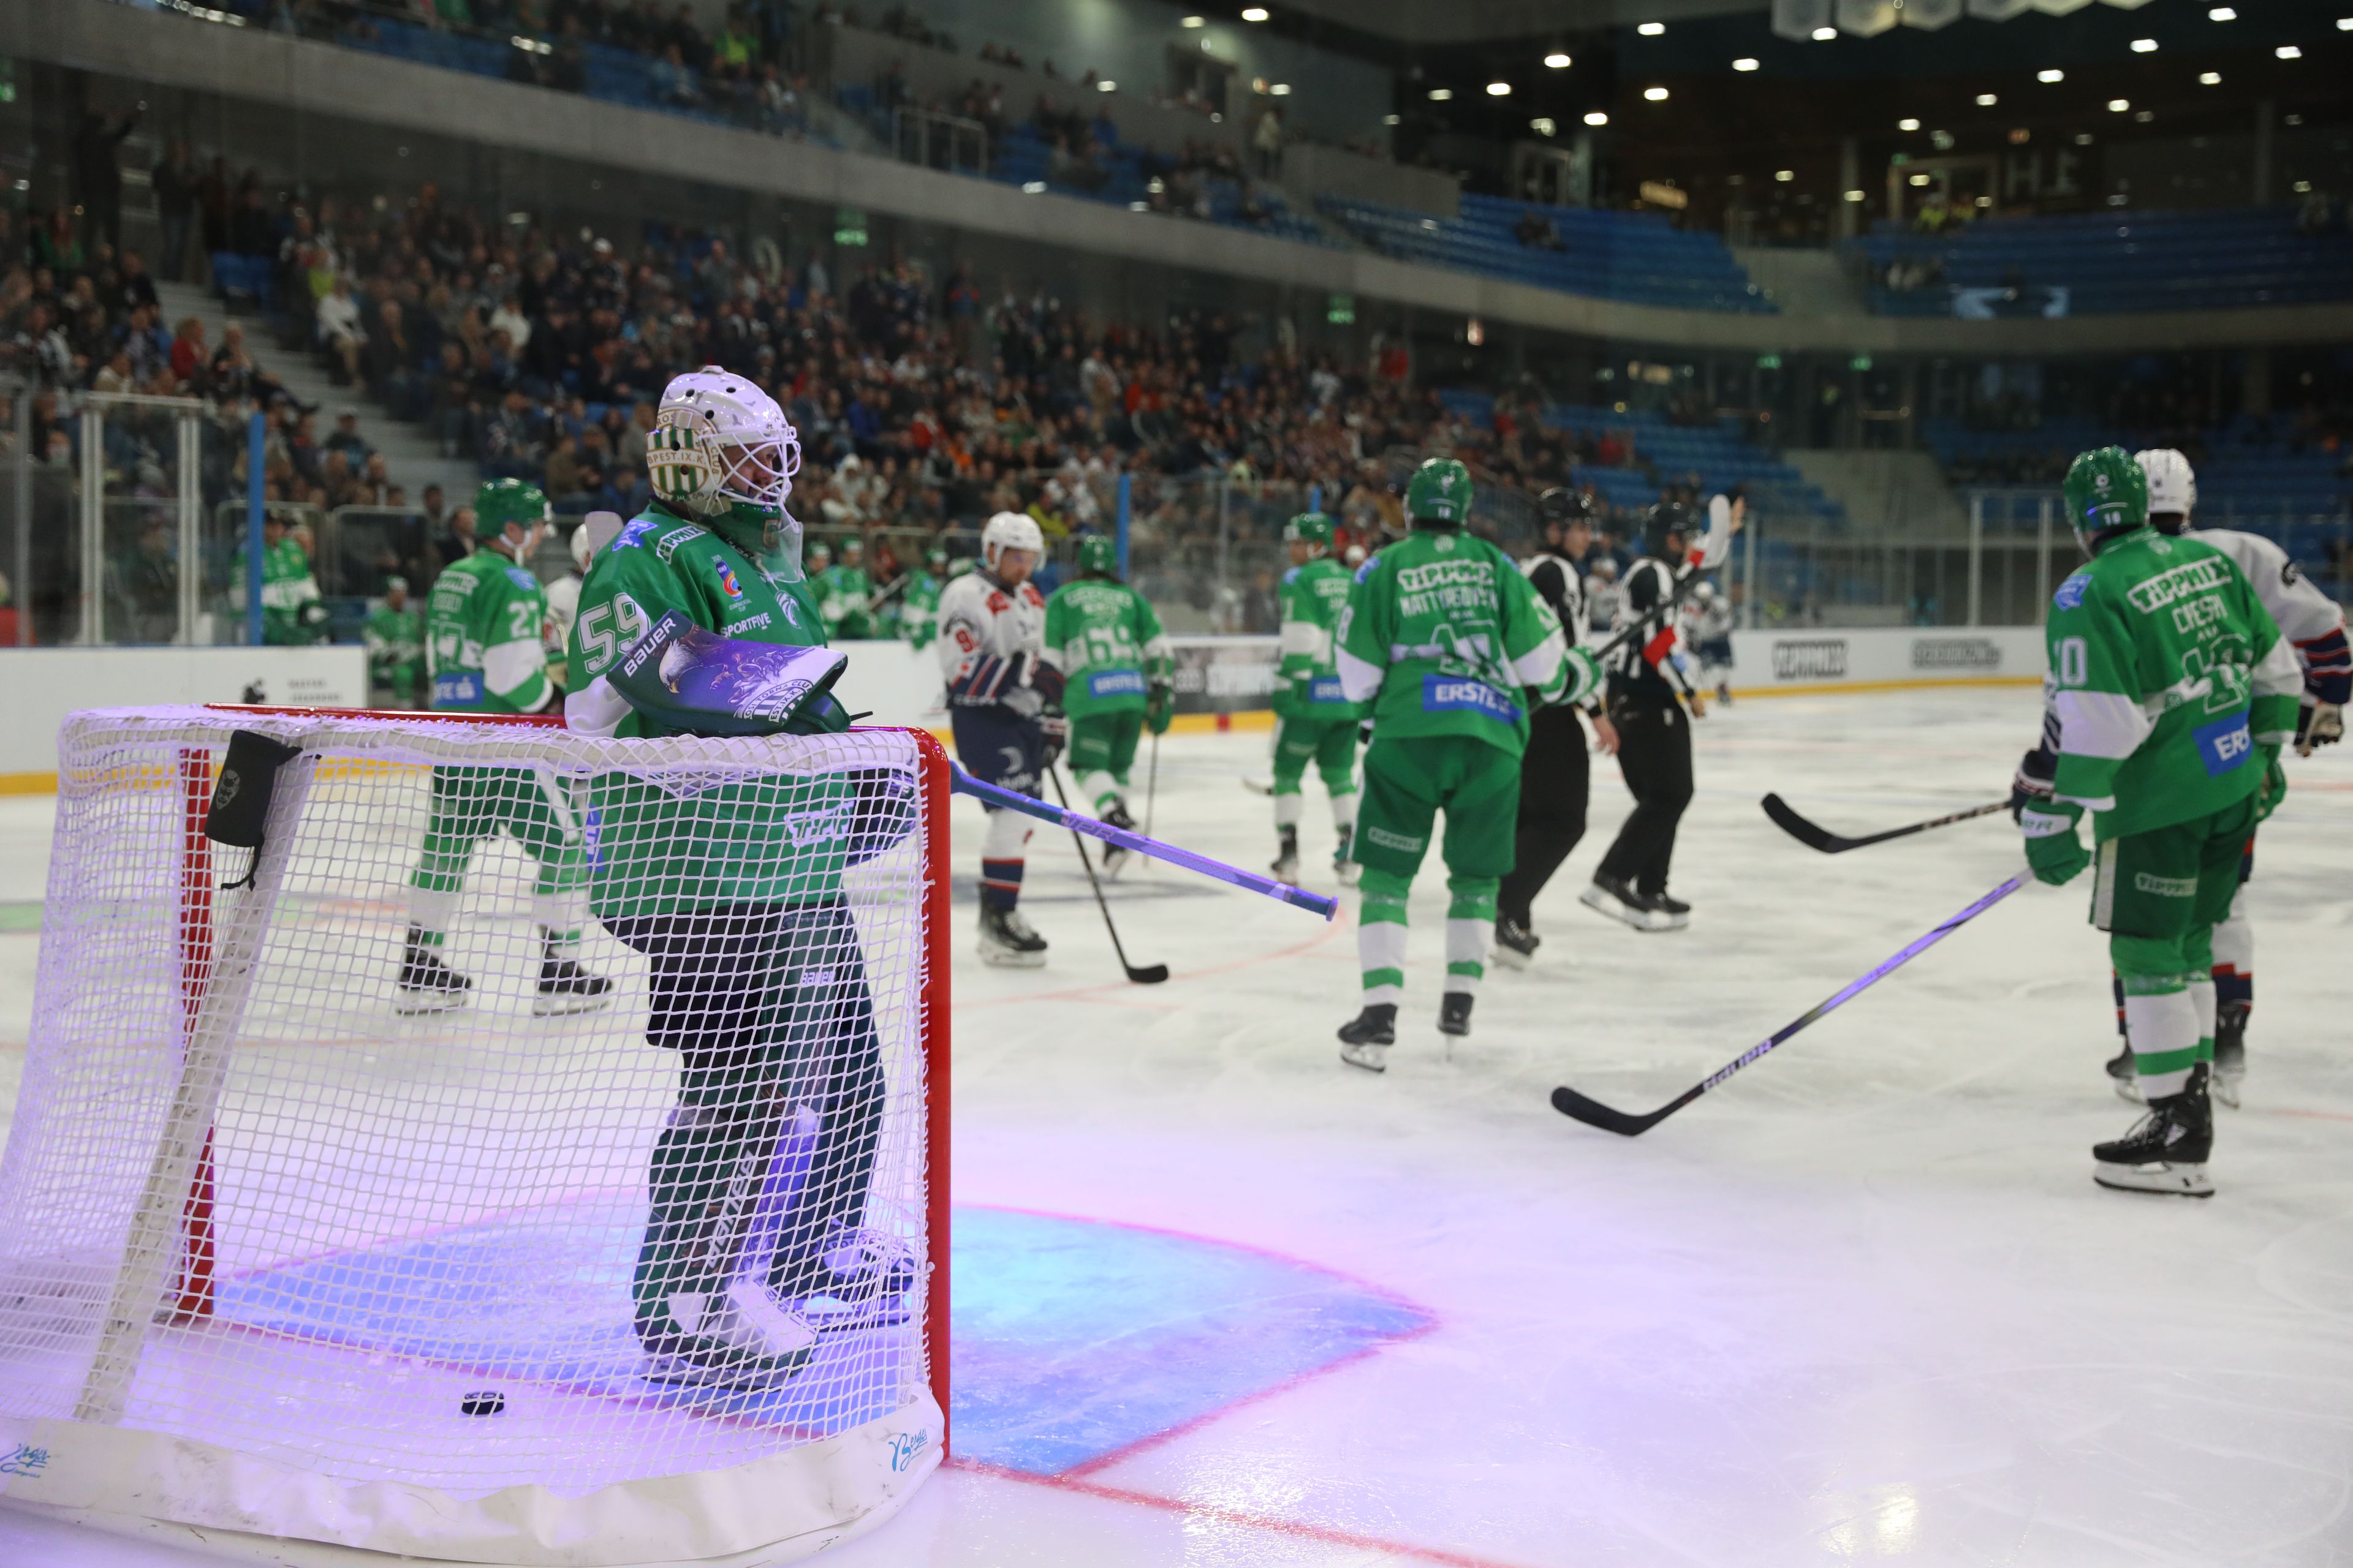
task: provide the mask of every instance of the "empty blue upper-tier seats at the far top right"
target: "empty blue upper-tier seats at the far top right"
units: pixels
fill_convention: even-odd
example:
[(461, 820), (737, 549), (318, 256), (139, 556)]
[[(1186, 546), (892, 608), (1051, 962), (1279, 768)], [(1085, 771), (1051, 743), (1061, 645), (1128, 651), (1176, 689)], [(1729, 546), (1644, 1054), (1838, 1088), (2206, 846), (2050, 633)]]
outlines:
[[(1984, 219), (1920, 235), (1878, 223), (1852, 247), (1885, 315), (1944, 315), (1951, 289), (2066, 287), (2068, 310), (2224, 310), (2353, 299), (2353, 235), (2297, 233), (2294, 207)], [(1892, 292), (1897, 259), (1944, 261), (1944, 284)]]

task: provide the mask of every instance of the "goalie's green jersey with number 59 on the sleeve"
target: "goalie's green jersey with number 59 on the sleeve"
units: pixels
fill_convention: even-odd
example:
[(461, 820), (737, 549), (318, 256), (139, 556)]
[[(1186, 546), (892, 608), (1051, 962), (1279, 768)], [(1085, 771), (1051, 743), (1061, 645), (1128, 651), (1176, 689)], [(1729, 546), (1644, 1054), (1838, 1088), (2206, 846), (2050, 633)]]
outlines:
[[(673, 609), (744, 642), (826, 646), (805, 583), (772, 578), (720, 534), (654, 503), (588, 562), (572, 623), (569, 729), (673, 733), (645, 719), (607, 679), (621, 654)], [(840, 731), (849, 719), (828, 698), (814, 724)], [(588, 797), (588, 905), (598, 919), (809, 903), (840, 891), (854, 802), (854, 785), (840, 773), (765, 773), (685, 792), (635, 773), (600, 773)]]

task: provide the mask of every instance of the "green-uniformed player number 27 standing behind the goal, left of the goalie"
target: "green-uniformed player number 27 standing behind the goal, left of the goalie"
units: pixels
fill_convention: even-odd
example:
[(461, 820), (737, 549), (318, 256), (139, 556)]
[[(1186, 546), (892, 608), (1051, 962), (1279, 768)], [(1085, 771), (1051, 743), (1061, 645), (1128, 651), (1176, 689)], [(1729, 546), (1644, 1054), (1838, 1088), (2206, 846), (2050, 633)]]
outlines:
[[(454, 562), (426, 602), (426, 668), (442, 712), (544, 712), (555, 701), (541, 642), (548, 595), (529, 559), (548, 531), (548, 498), (522, 480), (492, 480), (473, 496), (482, 548)], [(588, 860), (581, 809), (544, 769), (433, 769), (424, 853), (409, 872), (409, 936), (393, 1006), (435, 1013), (464, 1006), (473, 980), (447, 959), (449, 926), (482, 839), (506, 832), (532, 860), (532, 922), (539, 929), (534, 1013), (605, 1006), (612, 980), (579, 966)]]

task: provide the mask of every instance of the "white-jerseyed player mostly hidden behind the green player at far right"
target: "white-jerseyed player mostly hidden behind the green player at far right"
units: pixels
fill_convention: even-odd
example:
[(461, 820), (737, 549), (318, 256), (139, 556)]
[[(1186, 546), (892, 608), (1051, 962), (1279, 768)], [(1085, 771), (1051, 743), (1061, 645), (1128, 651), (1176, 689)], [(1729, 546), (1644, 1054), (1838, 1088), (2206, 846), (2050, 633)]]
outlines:
[[(2198, 505), (2198, 475), (2191, 461), (2169, 447), (2132, 454), (2148, 477), (2148, 522), (2160, 534), (2184, 534), (2191, 529), (2191, 512)], [(2304, 571), (2287, 557), (2287, 550), (2261, 534), (2238, 529), (2195, 529), (2200, 543), (2228, 555), (2254, 597), (2280, 625), (2280, 635), (2294, 644), (2297, 663), (2304, 668), (2304, 710), (2297, 719), (2297, 755), (2311, 757), (2315, 745), (2332, 745), (2344, 738), (2344, 705), (2353, 698), (2353, 651), (2346, 646), (2344, 609), (2320, 592)], [(2045, 689), (2047, 691), (2047, 689)], [(2026, 752), (2012, 788), (2012, 802), (2047, 799), (2049, 769), (2059, 741), (2057, 712), (2045, 701), (2042, 745)], [(2287, 790), (2287, 778), (2264, 780), (2259, 816), (2271, 816)], [(2238, 898), (2231, 900), (2231, 917), (2214, 926), (2214, 1098), (2238, 1107), (2240, 1081), (2247, 1077), (2247, 1016), (2254, 1011), (2254, 926), (2247, 919), (2247, 879), (2254, 875), (2254, 839), (2238, 867)], [(2118, 987), (2118, 1030), (2122, 1030), (2125, 1004)], [(2139, 1081), (2127, 1046), (2108, 1063), (2108, 1079), (2115, 1093), (2139, 1100)]]

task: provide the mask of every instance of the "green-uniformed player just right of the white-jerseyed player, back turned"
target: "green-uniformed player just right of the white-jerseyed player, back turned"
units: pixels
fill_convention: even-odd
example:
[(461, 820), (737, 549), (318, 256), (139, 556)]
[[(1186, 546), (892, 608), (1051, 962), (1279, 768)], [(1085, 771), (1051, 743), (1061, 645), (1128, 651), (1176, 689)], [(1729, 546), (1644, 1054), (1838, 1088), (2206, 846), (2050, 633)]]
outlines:
[[(1151, 602), (1120, 581), (1120, 552), (1099, 536), (1078, 541), (1078, 578), (1045, 602), (1045, 656), (1068, 677), (1071, 773), (1094, 816), (1134, 827), (1127, 809), (1136, 736), (1167, 733), (1176, 710), (1176, 656)], [(1104, 853), (1118, 870), (1125, 849)]]

